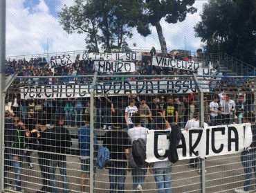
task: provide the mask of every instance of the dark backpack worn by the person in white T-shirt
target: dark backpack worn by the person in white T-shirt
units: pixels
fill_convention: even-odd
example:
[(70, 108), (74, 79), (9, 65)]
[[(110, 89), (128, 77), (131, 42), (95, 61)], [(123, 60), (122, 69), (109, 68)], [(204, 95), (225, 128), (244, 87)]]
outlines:
[(131, 154), (129, 155), (129, 166), (131, 168), (142, 168), (146, 160), (146, 140), (138, 138), (131, 145)]

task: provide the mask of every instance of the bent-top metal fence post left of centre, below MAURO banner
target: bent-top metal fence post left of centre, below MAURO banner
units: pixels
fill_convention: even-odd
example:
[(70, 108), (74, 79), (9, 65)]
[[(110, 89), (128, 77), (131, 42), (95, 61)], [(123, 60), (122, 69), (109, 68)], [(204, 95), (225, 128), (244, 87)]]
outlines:
[[(97, 75), (98, 73), (94, 73), (93, 76), (93, 82), (91, 84), (91, 91), (90, 91), (90, 104), (91, 107), (94, 107), (94, 95), (95, 95), (95, 83), (97, 80)], [(94, 134), (93, 134), (93, 130), (94, 130), (94, 116), (95, 115), (95, 111), (94, 108), (90, 109), (90, 192), (93, 193), (93, 167), (95, 167), (95, 165), (93, 165), (93, 154), (94, 154)]]

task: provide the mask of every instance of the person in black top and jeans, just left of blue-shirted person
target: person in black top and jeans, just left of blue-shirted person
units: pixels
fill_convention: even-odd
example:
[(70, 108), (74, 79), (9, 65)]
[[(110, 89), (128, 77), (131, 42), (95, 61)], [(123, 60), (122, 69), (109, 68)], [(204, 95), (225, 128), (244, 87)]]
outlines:
[[(51, 138), (50, 138), (51, 137)], [(55, 172), (56, 167), (60, 169), (60, 175), (62, 177), (62, 188), (64, 193), (68, 193), (68, 178), (66, 177), (66, 148), (71, 147), (71, 136), (68, 129), (64, 127), (64, 116), (57, 115), (55, 117), (55, 127), (49, 132), (49, 143), (51, 145), (49, 160), (49, 172), (51, 179), (52, 192), (57, 193)]]

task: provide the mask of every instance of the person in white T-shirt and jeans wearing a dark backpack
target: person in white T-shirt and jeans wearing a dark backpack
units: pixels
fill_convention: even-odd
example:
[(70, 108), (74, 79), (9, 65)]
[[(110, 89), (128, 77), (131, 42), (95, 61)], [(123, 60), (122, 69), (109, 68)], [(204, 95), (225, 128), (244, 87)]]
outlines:
[[(145, 127), (141, 127), (140, 114), (134, 113), (134, 115), (131, 116), (131, 120), (135, 125), (134, 128), (131, 128), (128, 130), (128, 136), (131, 140), (131, 145), (134, 142), (134, 140), (138, 140), (138, 138), (141, 138), (141, 139), (147, 141), (147, 132), (149, 131), (149, 129), (147, 129)], [(141, 169), (140, 168), (136, 168), (136, 169), (129, 168), (128, 171), (131, 170), (131, 176), (132, 176), (134, 190), (137, 190), (139, 192), (142, 191), (143, 183), (145, 181), (145, 175), (147, 174), (147, 167), (148, 167), (148, 163), (145, 162), (145, 164), (143, 165), (143, 167)]]

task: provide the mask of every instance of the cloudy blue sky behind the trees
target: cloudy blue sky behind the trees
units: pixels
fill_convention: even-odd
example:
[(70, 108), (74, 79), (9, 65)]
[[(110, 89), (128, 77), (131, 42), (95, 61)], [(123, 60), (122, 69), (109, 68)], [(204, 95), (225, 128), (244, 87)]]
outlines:
[[(69, 35), (58, 23), (57, 13), (64, 5), (72, 6), (73, 0), (8, 0), (6, 1), (6, 56), (37, 55), (86, 50), (85, 34)], [(167, 24), (161, 20), (167, 50), (186, 49), (196, 51), (202, 48), (200, 38), (195, 37), (193, 27), (201, 20), (204, 0), (196, 0), (197, 12), (187, 15), (185, 21)], [(150, 50), (152, 46), (161, 50), (156, 28), (152, 34), (142, 37), (136, 30), (127, 39), (130, 48)], [(133, 44), (136, 43), (136, 47)]]

